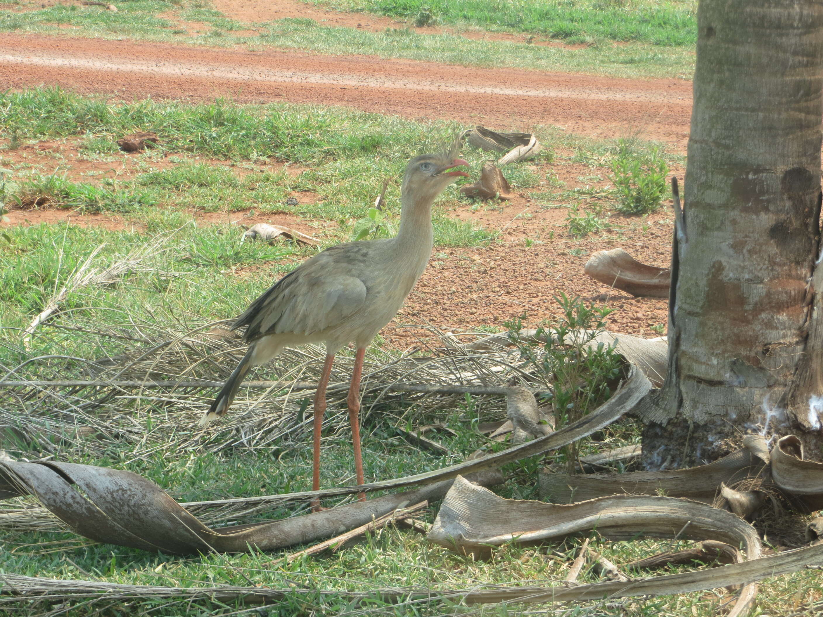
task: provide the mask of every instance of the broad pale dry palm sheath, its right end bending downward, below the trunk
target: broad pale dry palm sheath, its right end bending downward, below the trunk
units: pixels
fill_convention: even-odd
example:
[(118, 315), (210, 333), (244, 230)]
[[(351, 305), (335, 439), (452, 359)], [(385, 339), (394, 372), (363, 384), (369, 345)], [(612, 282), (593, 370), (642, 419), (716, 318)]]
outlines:
[[(490, 554), (493, 546), (564, 538), (593, 529), (610, 540), (635, 540), (638, 537), (718, 540), (729, 545), (742, 545), (747, 560), (758, 560), (761, 556), (760, 538), (754, 527), (732, 513), (704, 503), (671, 497), (616, 495), (564, 506), (503, 499), (460, 477), (454, 480), (446, 494), (428, 538), (459, 554), (477, 558)], [(757, 569), (751, 568), (754, 577), (759, 576)], [(677, 574), (642, 581), (601, 583), (600, 589), (613, 589), (614, 592), (603, 593), (600, 597), (621, 596), (621, 591), (625, 595), (641, 595), (641, 587), (649, 595), (725, 587), (714, 574), (716, 572), (696, 571), (685, 576)], [(745, 581), (750, 584), (742, 589), (729, 615), (745, 615), (751, 608), (756, 594), (756, 586), (751, 580), (756, 578)], [(585, 587), (593, 586), (550, 587), (543, 588), (542, 592), (544, 599), (583, 599), (588, 596), (583, 591)]]

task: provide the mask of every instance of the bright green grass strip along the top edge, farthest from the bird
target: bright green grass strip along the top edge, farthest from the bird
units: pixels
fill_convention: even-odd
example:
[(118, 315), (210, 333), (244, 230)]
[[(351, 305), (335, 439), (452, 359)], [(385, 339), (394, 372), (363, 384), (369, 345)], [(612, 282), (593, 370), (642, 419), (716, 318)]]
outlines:
[(697, 37), (694, 0), (319, 0), (417, 26), (475, 26), (588, 43), (597, 39), (678, 47)]

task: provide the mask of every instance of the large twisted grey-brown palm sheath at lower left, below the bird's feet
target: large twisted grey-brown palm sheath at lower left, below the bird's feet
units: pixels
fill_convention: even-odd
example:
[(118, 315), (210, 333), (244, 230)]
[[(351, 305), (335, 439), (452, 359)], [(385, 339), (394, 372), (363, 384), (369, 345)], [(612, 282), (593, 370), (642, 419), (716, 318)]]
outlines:
[(336, 536), (410, 503), (441, 499), (451, 485), (452, 480), (435, 482), (302, 517), (212, 529), (160, 487), (130, 471), (64, 462), (0, 462), (0, 499), (31, 494), (81, 536), (172, 554), (277, 550)]

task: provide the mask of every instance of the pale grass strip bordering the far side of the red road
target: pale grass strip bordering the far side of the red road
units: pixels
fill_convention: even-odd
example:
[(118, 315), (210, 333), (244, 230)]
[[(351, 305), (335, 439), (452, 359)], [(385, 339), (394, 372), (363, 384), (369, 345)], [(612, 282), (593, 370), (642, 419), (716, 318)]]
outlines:
[[(677, 5), (680, 6), (680, 5)], [(213, 47), (244, 45), (306, 49), (318, 53), (366, 53), (381, 58), (407, 58), (478, 67), (532, 68), (551, 72), (586, 72), (615, 77), (677, 77), (690, 79), (694, 51), (679, 46), (646, 43), (611, 44), (607, 39), (591, 41), (584, 49), (563, 49), (506, 41), (473, 40), (460, 35), (418, 35), (412, 30), (370, 32), (332, 28), (310, 19), (284, 19), (261, 25), (245, 25), (226, 19), (211, 9), (180, 11), (174, 4), (156, 0), (120, 2), (119, 12), (99, 7), (55, 5), (30, 12), (0, 11), (0, 31), (38, 32), (48, 35), (144, 39)], [(644, 9), (645, 10), (645, 9)], [(181, 29), (160, 13), (206, 22)], [(633, 12), (625, 13), (631, 22)], [(599, 12), (588, 11), (588, 15)], [(236, 35), (235, 30), (253, 27), (254, 35)], [(491, 27), (491, 26), (490, 26)]]

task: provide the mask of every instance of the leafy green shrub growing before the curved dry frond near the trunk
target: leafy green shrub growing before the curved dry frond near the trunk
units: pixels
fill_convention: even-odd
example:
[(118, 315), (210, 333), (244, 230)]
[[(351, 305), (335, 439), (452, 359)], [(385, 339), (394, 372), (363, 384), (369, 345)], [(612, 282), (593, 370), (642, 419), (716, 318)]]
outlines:
[[(559, 429), (611, 397), (620, 380), (621, 357), (612, 346), (596, 340), (606, 330), (606, 318), (613, 309), (565, 294), (555, 300), (560, 318), (541, 324), (533, 336), (522, 336), (522, 318), (505, 326), (521, 359), (551, 383), (551, 411), (555, 429)], [(579, 443), (574, 443), (562, 451), (570, 472), (577, 462), (577, 448)]]

